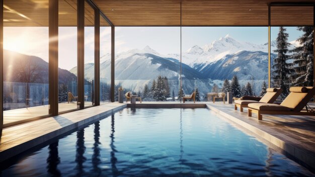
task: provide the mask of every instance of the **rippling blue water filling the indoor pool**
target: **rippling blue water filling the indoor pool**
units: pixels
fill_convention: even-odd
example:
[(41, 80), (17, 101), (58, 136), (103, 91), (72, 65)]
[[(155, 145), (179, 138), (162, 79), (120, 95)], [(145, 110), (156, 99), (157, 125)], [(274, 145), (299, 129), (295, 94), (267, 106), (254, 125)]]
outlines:
[(1, 168), (2, 176), (314, 175), (202, 108), (125, 108)]

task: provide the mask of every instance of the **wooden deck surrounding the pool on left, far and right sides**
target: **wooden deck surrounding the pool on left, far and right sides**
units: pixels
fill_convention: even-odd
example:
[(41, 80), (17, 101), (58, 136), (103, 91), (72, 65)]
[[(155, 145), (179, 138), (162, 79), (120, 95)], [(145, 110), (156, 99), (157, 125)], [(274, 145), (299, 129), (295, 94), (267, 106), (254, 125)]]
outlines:
[[(141, 104), (108, 103), (83, 110), (63, 113), (54, 117), (24, 123), (3, 129), (0, 139), (0, 162), (19, 153), (47, 142), (66, 132), (84, 128), (125, 107), (166, 107), (197, 108), (208, 107), (229, 122), (237, 124), (252, 132), (255, 137), (268, 146), (280, 151), (289, 158), (315, 169), (315, 116), (297, 115), (263, 115), (259, 121), (256, 114), (247, 116), (244, 112), (234, 110), (233, 104), (222, 102), (142, 102)], [(311, 107), (315, 107), (312, 104)]]

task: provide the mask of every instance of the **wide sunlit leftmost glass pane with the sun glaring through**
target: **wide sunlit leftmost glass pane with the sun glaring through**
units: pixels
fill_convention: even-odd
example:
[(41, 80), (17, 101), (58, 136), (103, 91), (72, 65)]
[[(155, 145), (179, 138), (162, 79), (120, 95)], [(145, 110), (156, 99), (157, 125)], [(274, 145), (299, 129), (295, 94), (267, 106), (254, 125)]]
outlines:
[(48, 114), (48, 41), (48, 0), (4, 1), (4, 124)]

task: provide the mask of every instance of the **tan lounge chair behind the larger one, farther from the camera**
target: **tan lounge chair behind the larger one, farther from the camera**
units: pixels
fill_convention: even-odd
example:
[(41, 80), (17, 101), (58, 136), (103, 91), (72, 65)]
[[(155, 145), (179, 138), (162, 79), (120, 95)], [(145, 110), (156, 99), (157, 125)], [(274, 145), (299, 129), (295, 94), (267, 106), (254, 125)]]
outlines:
[(278, 96), (281, 94), (281, 88), (268, 88), (266, 93), (262, 98), (253, 96), (243, 96), (241, 100), (234, 101), (234, 109), (238, 110), (240, 107), (241, 112), (243, 112), (243, 107), (248, 107), (250, 103), (273, 103)]

